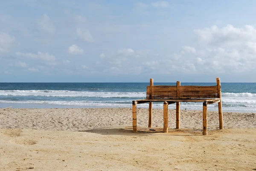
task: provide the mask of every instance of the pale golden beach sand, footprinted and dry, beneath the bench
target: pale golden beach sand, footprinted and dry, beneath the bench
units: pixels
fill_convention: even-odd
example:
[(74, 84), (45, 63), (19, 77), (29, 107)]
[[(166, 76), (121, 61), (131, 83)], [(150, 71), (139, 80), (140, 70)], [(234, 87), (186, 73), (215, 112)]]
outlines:
[[(163, 110), (138, 109), (132, 133), (129, 108), (0, 109), (0, 171), (253, 171), (256, 170), (256, 114), (182, 110), (175, 130), (162, 133)], [(30, 169), (29, 169), (30, 168)]]

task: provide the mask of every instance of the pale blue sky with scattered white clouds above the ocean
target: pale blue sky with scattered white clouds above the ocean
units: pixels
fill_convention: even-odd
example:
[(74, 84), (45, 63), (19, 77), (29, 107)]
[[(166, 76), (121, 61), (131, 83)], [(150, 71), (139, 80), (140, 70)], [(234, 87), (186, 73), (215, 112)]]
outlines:
[(255, 0), (0, 0), (0, 82), (256, 82)]

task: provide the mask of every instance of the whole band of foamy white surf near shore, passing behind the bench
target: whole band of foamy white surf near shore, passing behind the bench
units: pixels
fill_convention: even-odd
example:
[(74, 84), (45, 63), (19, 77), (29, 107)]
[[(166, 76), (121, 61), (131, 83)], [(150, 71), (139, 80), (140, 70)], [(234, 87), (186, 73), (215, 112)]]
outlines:
[[(0, 103), (16, 104), (52, 104), (52, 105), (76, 105), (84, 107), (131, 107), (131, 101), (135, 99), (145, 99), (145, 92), (90, 92), (90, 91), (69, 91), (69, 90), (0, 90), (0, 96), (9, 96), (8, 100), (0, 100)], [(10, 96), (41, 96), (36, 99), (46, 100), (9, 100)], [(46, 98), (43, 98), (45, 96)], [(51, 98), (55, 100), (49, 100)], [(58, 98), (59, 97), (59, 98)], [(61, 98), (64, 97), (64, 98)], [(72, 101), (63, 101), (66, 97)], [(76, 98), (80, 97), (80, 98)], [(107, 98), (107, 99), (104, 99)], [(113, 99), (111, 99), (113, 98)], [(118, 99), (115, 99), (118, 98)], [(11, 98), (12, 99), (12, 98)], [(15, 98), (14, 98), (15, 99)], [(34, 99), (34, 98), (33, 98)], [(56, 99), (62, 100), (58, 101)], [(99, 99), (101, 99), (99, 101)], [(246, 110), (256, 111), (256, 94), (254, 93), (222, 93), (222, 103), (224, 110)], [(154, 102), (154, 108), (163, 108), (163, 103)], [(148, 104), (138, 104), (138, 107), (148, 107)], [(201, 103), (182, 103), (181, 109), (201, 110)], [(169, 109), (175, 109), (175, 104), (170, 104)], [(209, 110), (218, 110), (217, 104), (208, 106)]]

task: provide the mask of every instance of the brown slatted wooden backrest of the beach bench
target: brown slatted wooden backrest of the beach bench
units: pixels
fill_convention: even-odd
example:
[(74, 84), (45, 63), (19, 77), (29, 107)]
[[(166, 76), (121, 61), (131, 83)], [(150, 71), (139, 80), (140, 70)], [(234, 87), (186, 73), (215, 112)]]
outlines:
[(147, 86), (146, 99), (221, 98), (220, 81), (219, 86), (218, 81), (216, 86), (180, 86), (179, 81), (177, 81), (177, 86), (153, 86), (152, 80), (151, 86)]

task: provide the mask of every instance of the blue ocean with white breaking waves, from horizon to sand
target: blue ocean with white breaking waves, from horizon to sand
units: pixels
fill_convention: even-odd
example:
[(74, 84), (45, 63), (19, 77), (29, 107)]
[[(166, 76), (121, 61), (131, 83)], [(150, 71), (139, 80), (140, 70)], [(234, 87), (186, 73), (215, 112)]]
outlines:
[[(145, 99), (148, 83), (0, 83), (0, 107), (89, 108), (131, 107), (132, 101)], [(176, 85), (154, 83), (154, 85)], [(181, 83), (211, 86), (216, 83)], [(256, 83), (221, 83), (223, 111), (256, 113)], [(138, 104), (146, 108), (148, 104)], [(154, 102), (153, 108), (162, 108)], [(202, 110), (202, 103), (181, 103), (181, 109)], [(170, 104), (169, 109), (175, 109)], [(218, 110), (209, 104), (208, 110)]]

